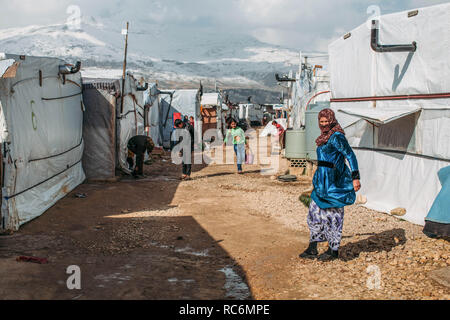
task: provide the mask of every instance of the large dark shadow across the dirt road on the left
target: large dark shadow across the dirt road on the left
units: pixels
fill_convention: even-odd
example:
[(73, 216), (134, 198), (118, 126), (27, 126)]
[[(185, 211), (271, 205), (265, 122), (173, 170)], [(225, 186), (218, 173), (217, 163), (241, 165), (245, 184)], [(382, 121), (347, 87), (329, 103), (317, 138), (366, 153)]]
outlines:
[[(170, 179), (83, 184), (0, 237), (1, 299), (252, 299), (245, 272), (220, 241), (179, 215), (177, 169), (158, 161), (146, 175)], [(16, 262), (22, 255), (49, 264)], [(67, 288), (72, 265), (81, 269), (81, 290)]]

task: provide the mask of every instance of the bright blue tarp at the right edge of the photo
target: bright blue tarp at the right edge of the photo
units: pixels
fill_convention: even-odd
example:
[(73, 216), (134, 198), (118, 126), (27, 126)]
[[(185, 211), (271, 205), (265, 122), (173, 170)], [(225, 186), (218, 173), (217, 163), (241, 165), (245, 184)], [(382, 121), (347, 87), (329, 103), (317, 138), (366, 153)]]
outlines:
[(434, 201), (426, 221), (450, 224), (450, 166), (438, 173), (442, 190)]

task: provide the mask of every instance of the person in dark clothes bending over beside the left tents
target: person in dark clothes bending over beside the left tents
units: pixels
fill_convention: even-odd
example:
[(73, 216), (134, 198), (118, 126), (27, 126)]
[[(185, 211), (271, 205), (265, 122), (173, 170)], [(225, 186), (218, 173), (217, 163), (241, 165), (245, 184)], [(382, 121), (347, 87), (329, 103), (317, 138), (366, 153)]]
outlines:
[(150, 137), (147, 136), (134, 136), (128, 141), (128, 157), (127, 162), (130, 166), (130, 170), (133, 169), (134, 155), (136, 155), (136, 167), (133, 171), (133, 177), (144, 177), (144, 157), (145, 151), (150, 156), (155, 148), (155, 144)]

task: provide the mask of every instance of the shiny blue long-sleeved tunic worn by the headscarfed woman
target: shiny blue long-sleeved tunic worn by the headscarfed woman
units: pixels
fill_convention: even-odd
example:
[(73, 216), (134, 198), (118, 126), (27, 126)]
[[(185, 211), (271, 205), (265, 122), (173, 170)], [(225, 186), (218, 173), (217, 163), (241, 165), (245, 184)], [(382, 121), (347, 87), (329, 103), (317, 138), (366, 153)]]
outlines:
[[(343, 208), (355, 203), (354, 179), (360, 179), (358, 160), (345, 135), (336, 132), (328, 143), (317, 148), (319, 167), (314, 175), (311, 198), (321, 209)], [(345, 160), (348, 160), (351, 171)], [(320, 166), (326, 162), (334, 168)]]

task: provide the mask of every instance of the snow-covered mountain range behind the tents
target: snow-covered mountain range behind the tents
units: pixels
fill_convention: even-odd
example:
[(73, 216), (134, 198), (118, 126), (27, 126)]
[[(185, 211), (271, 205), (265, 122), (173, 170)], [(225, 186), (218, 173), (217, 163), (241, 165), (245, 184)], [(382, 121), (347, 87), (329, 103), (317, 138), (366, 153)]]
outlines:
[[(79, 28), (65, 23), (0, 30), (0, 52), (81, 59), (86, 77), (120, 77), (124, 53), (122, 27), (83, 18)], [(166, 86), (200, 80), (223, 88), (276, 86), (275, 73), (296, 70), (299, 54), (242, 34), (212, 33), (145, 21), (130, 25), (128, 69)]]

